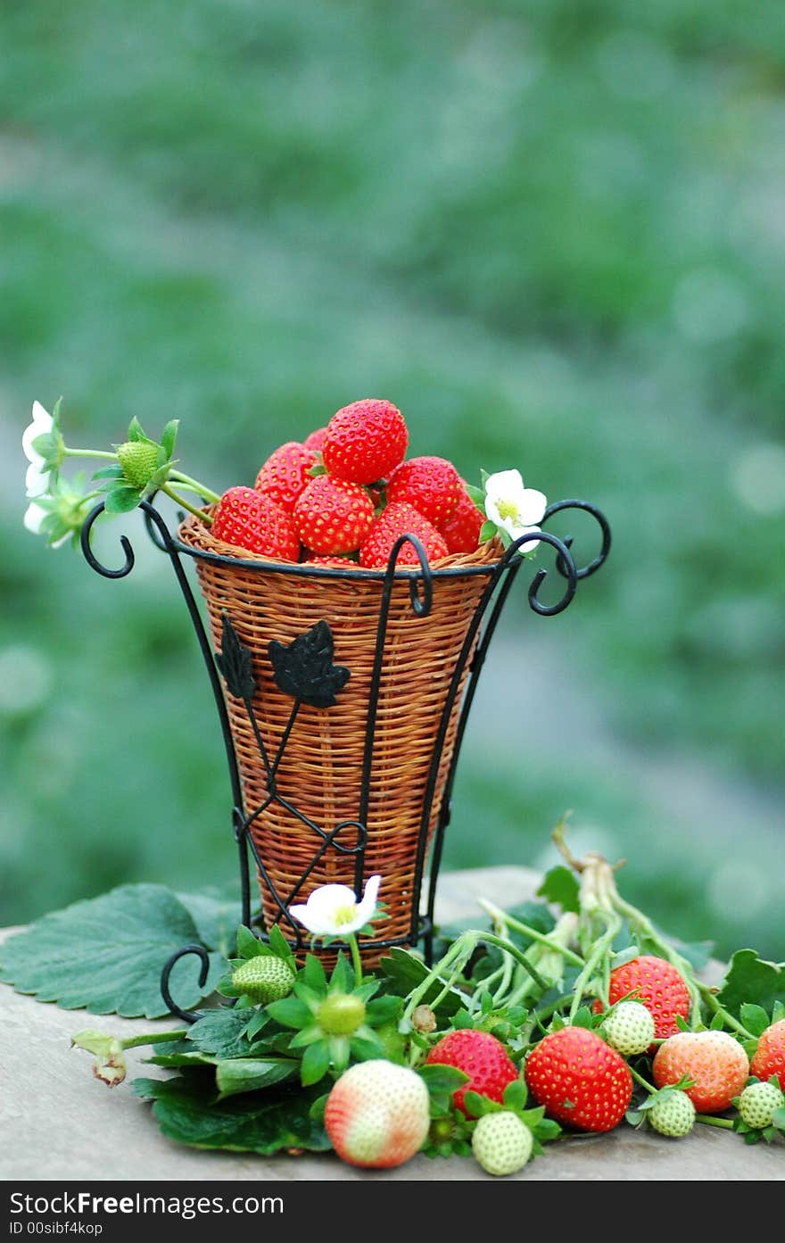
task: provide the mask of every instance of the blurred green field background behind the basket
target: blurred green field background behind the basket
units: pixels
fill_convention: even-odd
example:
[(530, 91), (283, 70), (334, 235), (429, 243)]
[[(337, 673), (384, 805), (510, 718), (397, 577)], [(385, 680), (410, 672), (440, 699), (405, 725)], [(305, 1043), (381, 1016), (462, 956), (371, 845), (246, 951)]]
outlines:
[[(448, 866), (626, 855), (673, 932), (783, 957), (785, 35), (759, 0), (4, 0), (2, 922), (234, 875), (217, 723), (137, 516), (99, 579), (21, 530), (19, 438), (158, 435), (221, 490), (349, 400), (585, 495), (519, 589)], [(589, 554), (589, 534), (570, 530)], [(581, 549), (580, 539), (585, 534)], [(778, 935), (778, 927), (779, 933)]]

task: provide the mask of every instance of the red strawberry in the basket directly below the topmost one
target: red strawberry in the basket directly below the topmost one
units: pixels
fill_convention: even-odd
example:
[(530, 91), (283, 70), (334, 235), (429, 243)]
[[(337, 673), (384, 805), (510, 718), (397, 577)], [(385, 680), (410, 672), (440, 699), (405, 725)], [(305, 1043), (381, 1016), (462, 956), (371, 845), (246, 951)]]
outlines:
[(359, 484), (317, 475), (292, 513), (299, 538), (315, 553), (355, 552), (371, 528), (374, 506)]

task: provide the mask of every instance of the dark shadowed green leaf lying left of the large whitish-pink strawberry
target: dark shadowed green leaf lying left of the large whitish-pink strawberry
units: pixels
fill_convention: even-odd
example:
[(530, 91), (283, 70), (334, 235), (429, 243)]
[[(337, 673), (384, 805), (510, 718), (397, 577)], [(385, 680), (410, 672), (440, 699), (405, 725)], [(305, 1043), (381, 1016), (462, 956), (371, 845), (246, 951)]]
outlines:
[(282, 1149), (327, 1152), (330, 1142), (320, 1121), (311, 1117), (318, 1093), (282, 1084), (258, 1099), (217, 1101), (204, 1076), (137, 1079), (134, 1091), (153, 1100), (153, 1114), (165, 1136), (196, 1149), (268, 1155)]

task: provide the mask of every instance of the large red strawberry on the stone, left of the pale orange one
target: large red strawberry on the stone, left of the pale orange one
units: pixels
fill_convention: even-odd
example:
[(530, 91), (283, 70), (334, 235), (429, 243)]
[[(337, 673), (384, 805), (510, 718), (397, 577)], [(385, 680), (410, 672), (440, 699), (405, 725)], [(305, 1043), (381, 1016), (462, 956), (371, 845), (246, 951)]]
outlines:
[(632, 1098), (627, 1063), (585, 1027), (543, 1037), (527, 1060), (532, 1095), (559, 1122), (580, 1131), (611, 1131)]

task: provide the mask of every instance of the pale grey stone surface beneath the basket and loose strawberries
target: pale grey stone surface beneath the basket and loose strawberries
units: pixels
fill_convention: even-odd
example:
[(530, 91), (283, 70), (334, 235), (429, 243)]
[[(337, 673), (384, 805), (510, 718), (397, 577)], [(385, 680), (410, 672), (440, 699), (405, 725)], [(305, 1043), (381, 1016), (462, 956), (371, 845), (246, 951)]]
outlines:
[[(437, 915), (465, 920), (474, 901), (488, 896), (499, 906), (530, 897), (534, 873), (522, 868), (484, 868), (446, 873), (440, 880)], [(10, 935), (7, 930), (4, 935)], [(4, 1180), (199, 1181), (202, 1178), (333, 1180), (486, 1180), (471, 1160), (416, 1157), (399, 1170), (353, 1170), (330, 1155), (257, 1157), (200, 1152), (164, 1139), (150, 1106), (133, 1096), (129, 1080), (139, 1074), (166, 1075), (143, 1064), (144, 1049), (127, 1054), (128, 1080), (107, 1088), (91, 1075), (91, 1055), (71, 1049), (75, 1032), (89, 1027), (120, 1037), (164, 1030), (171, 1019), (119, 1019), (63, 1011), (0, 986), (0, 1177)], [(785, 1145), (746, 1147), (733, 1135), (699, 1126), (686, 1140), (667, 1140), (619, 1127), (610, 1135), (550, 1145), (545, 1156), (520, 1175), (529, 1181), (746, 1181), (785, 1180)]]

